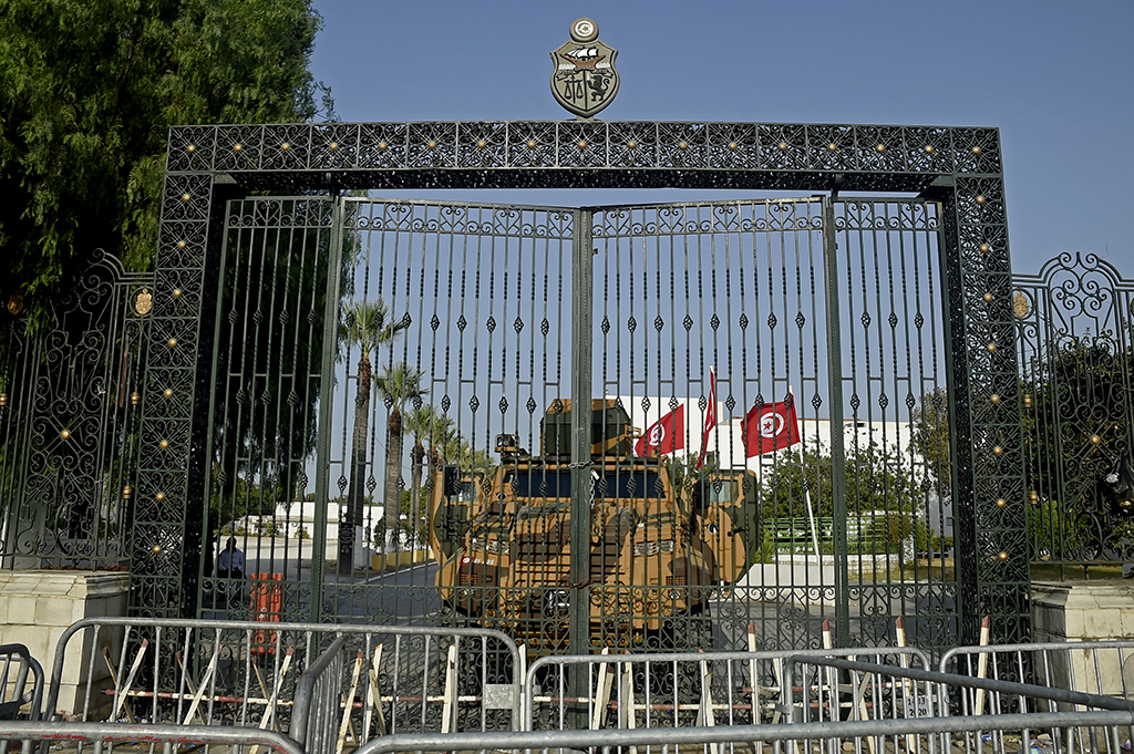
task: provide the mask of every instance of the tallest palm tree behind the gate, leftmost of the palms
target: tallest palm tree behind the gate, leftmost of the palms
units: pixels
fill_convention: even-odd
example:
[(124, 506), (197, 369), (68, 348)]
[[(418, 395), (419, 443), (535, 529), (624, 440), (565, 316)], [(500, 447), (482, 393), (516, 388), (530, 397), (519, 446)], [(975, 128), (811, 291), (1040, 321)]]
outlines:
[(393, 340), (407, 323), (395, 322), (381, 298), (356, 302), (342, 308), (339, 323), (339, 347), (345, 344), (358, 347), (358, 375), (355, 383), (354, 432), (350, 438), (350, 477), (346, 510), (339, 514), (339, 571), (349, 571), (356, 565), (355, 556), (363, 550), (363, 501), (366, 477), (366, 434), (370, 431), (370, 395), (373, 382), (371, 351), (379, 345)]

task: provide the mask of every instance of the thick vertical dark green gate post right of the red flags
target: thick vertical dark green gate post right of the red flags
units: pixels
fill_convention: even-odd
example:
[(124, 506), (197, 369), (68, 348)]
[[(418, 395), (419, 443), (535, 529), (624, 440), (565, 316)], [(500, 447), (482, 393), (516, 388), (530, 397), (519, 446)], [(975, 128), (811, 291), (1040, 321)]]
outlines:
[(823, 290), (827, 294), (827, 380), (831, 422), (831, 516), (835, 544), (835, 641), (850, 636), (847, 573), (847, 476), (843, 439), (843, 333), (839, 329), (839, 265), (835, 237), (835, 198), (823, 200)]

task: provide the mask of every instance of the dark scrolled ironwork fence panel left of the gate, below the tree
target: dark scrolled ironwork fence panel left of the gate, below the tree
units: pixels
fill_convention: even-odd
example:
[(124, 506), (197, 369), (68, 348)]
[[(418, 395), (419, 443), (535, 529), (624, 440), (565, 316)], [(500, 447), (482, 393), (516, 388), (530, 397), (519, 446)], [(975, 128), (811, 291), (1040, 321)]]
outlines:
[(7, 328), (0, 365), (5, 568), (124, 568), (138, 463), (147, 274), (101, 249), (45, 329)]

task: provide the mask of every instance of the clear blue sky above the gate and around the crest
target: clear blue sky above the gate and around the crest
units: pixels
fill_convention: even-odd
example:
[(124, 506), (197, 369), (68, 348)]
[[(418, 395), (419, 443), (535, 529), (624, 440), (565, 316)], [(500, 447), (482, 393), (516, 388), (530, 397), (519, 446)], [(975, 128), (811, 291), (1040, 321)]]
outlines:
[[(619, 51), (621, 88), (602, 119), (995, 126), (1014, 270), (1034, 273), (1060, 252), (1082, 251), (1134, 278), (1131, 1), (315, 7), (324, 28), (314, 73), (331, 87), (341, 120), (569, 118), (548, 87), (549, 52), (567, 41), (570, 22), (589, 16)], [(508, 192), (492, 200), (637, 197), (684, 195)]]

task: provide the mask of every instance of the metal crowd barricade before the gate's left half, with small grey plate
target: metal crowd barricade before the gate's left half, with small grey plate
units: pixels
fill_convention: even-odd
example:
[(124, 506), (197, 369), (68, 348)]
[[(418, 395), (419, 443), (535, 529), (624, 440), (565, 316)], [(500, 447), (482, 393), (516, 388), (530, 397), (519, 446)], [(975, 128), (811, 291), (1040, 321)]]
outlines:
[(393, 732), (518, 729), (518, 667), (515, 643), (481, 628), (92, 618), (56, 646), (48, 709), (69, 688), (64, 711), (81, 721), (288, 731), (299, 712), (310, 730), (314, 702), (333, 700), (356, 746)]

